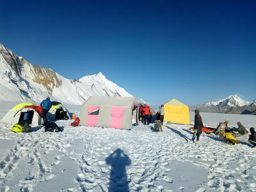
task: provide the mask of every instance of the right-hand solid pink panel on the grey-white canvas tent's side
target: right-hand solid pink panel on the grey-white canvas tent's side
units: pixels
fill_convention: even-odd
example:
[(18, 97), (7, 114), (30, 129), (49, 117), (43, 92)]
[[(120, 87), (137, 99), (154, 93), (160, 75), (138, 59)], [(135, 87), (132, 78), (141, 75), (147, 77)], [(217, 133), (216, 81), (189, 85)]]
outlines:
[(122, 128), (124, 117), (124, 107), (112, 107), (111, 108), (111, 123), (110, 128)]

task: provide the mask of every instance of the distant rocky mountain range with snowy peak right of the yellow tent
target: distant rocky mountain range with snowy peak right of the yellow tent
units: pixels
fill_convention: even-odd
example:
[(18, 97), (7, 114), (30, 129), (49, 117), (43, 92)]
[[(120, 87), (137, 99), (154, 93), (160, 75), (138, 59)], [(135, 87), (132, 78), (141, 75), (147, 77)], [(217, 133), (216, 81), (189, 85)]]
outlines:
[(190, 111), (199, 109), (201, 112), (208, 113), (256, 115), (256, 99), (253, 101), (245, 101), (237, 95), (229, 95), (227, 98), (215, 102), (207, 102), (202, 105), (197, 104), (188, 107)]

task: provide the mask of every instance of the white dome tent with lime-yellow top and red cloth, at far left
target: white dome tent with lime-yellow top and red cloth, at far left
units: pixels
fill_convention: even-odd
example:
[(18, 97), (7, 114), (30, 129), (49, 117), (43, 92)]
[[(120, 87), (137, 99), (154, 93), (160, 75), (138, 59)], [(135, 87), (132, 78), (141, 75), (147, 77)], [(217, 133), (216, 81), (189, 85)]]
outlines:
[(33, 103), (20, 103), (14, 106), (6, 115), (1, 119), (1, 122), (7, 124), (18, 124), (24, 119), (24, 114), (29, 114), (29, 124), (38, 126), (41, 124), (42, 107), (36, 106)]

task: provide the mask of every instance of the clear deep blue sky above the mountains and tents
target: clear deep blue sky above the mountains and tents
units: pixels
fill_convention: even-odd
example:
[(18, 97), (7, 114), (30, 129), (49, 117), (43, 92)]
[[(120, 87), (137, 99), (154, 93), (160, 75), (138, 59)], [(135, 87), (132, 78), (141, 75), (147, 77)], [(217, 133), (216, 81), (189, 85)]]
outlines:
[[(0, 42), (69, 79), (102, 72), (158, 107), (256, 98), (256, 1), (1, 1)], [(137, 78), (134, 78), (137, 76)]]

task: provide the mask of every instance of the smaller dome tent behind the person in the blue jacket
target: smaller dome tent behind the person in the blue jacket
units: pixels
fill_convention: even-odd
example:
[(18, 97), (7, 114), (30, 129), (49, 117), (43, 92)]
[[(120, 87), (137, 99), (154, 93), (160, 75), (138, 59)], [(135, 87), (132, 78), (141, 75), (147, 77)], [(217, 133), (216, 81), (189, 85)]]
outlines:
[(68, 116), (68, 118), (71, 119), (67, 108), (65, 108), (60, 102), (52, 101), (52, 108), (48, 111), (46, 118), (49, 121), (54, 121), (63, 119), (64, 116)]

